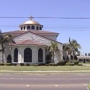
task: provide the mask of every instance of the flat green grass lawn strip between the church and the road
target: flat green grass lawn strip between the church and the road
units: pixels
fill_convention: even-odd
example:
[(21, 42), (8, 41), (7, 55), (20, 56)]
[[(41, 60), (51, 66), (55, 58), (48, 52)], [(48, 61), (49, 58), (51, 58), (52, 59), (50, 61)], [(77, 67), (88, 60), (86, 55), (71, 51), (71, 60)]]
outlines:
[(14, 71), (76, 71), (76, 70), (90, 70), (90, 66), (0, 66), (0, 70), (14, 70)]

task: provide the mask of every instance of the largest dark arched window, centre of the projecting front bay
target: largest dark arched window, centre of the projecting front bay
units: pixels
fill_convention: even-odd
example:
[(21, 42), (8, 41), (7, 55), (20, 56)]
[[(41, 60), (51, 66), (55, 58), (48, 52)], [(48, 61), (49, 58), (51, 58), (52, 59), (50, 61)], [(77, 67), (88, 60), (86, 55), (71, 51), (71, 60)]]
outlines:
[(32, 62), (32, 50), (30, 48), (24, 50), (24, 62)]

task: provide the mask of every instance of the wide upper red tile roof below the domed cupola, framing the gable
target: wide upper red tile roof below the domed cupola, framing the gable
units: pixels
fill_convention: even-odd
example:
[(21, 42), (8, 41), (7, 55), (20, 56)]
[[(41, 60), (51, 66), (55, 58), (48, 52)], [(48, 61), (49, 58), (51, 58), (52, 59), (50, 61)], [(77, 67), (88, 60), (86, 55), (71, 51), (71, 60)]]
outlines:
[(3, 34), (11, 34), (12, 37), (14, 38), (14, 37), (17, 37), (17, 36), (19, 36), (21, 34), (25, 34), (25, 33), (32, 33), (32, 34), (38, 35), (40, 37), (46, 38), (50, 41), (62, 44), (61, 42), (56, 41), (56, 37), (58, 36), (59, 33), (50, 32), (50, 31), (41, 31), (41, 30), (20, 31), (20, 30), (16, 30), (16, 31), (11, 31), (11, 32), (5, 32)]

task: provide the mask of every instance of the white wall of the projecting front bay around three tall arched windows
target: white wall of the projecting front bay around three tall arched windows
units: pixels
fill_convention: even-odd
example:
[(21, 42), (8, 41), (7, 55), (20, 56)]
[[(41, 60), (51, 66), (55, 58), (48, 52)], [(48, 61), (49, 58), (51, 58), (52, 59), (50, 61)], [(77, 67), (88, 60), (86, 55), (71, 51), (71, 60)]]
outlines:
[[(33, 63), (39, 63), (38, 62), (38, 49), (42, 49), (43, 50), (43, 62), (41, 63), (45, 63), (45, 47), (39, 47), (39, 46), (17, 46), (18, 49), (18, 63), (25, 63), (24, 62), (24, 50), (26, 48), (30, 48), (32, 50), (32, 62), (30, 62), (30, 64)], [(12, 47), (12, 63), (14, 63), (14, 49), (15, 47)]]

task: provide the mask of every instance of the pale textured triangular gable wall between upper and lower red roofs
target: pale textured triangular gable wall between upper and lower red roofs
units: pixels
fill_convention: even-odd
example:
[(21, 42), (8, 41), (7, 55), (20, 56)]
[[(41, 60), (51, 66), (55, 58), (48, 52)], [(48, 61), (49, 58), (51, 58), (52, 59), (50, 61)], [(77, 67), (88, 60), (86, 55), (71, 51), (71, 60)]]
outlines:
[(33, 41), (37, 41), (39, 43), (45, 44), (45, 45), (50, 45), (52, 40), (49, 40), (47, 38), (44, 38), (42, 36), (27, 32), (24, 34), (21, 34), (17, 37), (14, 37), (15, 42), (21, 42), (21, 41), (25, 41), (25, 40), (33, 40)]

